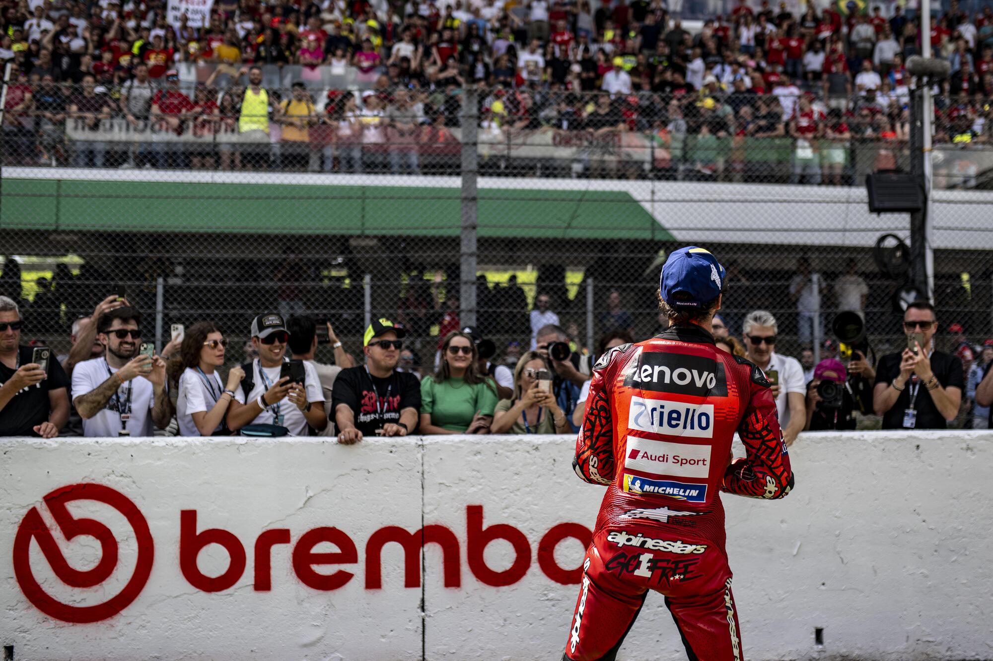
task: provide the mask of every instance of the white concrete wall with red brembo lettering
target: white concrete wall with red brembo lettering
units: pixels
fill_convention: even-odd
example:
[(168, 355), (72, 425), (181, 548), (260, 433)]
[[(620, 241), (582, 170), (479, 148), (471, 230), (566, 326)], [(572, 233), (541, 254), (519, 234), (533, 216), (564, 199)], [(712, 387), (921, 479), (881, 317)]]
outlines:
[[(546, 575), (548, 554), (539, 563), (539, 542), (558, 524), (592, 527), (603, 493), (575, 477), (572, 450), (572, 440), (562, 437), (408, 438), (354, 447), (317, 440), (0, 440), (0, 645), (12, 645), (18, 661), (559, 658), (577, 586)], [(797, 482), (785, 500), (725, 497), (747, 658), (993, 658), (993, 434), (812, 434), (800, 437), (791, 458)], [(13, 559), (18, 527), (36, 508), (72, 568), (96, 566), (96, 540), (67, 542), (52, 508), (42, 504), (54, 489), (81, 482), (132, 501), (148, 523), (155, 555), (133, 602), (105, 619), (70, 623), (32, 604)], [(527, 540), (530, 561), (520, 567), (526, 573), (510, 577), (518, 579), (510, 585), (486, 585), (470, 568), (467, 512), (478, 513), (478, 506), (484, 527), (508, 524)], [(119, 559), (110, 577), (91, 588), (69, 587), (37, 539), (20, 545), (28, 549), (21, 556), (45, 594), (73, 607), (107, 601), (135, 574), (140, 535), (106, 504), (80, 499), (67, 509), (113, 533)], [(198, 590), (180, 569), (180, 512), (194, 509), (198, 533), (229, 531), (245, 550), (244, 572), (219, 592)], [(454, 533), (433, 529), (456, 540), (447, 581), (459, 587), (444, 586), (436, 544), (424, 552), (426, 581), (414, 572), (404, 587), (403, 550), (388, 543), (382, 587), (367, 588), (373, 532), (413, 532), (422, 521)], [(328, 534), (355, 543), (357, 562), (338, 558), (340, 564), (313, 568), (354, 575), (337, 590), (308, 587), (293, 566), (298, 541), (322, 527), (338, 528)], [(259, 591), (255, 540), (273, 529), (288, 530), (274, 534), (290, 543), (272, 547), (271, 590)], [(504, 541), (487, 547), (491, 570), (510, 568), (511, 548)], [(313, 550), (336, 551), (327, 542)], [(416, 563), (419, 550), (413, 551)], [(575, 569), (582, 553), (581, 543), (567, 538), (554, 560)], [(227, 567), (219, 546), (199, 556), (205, 575)], [(815, 627), (823, 627), (822, 647), (814, 645)], [(649, 596), (620, 658), (685, 658), (659, 596)]]

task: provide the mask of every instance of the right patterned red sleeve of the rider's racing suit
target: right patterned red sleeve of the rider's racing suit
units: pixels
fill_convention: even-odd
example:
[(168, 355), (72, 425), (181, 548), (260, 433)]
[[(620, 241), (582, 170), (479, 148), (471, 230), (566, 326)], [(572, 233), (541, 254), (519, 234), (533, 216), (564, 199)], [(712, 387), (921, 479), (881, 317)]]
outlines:
[(793, 487), (793, 471), (776, 418), (776, 400), (758, 367), (752, 366), (750, 385), (750, 401), (738, 427), (748, 456), (728, 466), (721, 490), (752, 498), (782, 498)]

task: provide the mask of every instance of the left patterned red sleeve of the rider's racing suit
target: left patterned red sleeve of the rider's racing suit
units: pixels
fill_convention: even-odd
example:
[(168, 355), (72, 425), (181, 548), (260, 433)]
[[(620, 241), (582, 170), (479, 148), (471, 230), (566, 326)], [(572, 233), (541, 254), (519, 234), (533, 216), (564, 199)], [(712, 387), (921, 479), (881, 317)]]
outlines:
[(591, 484), (610, 484), (614, 480), (614, 417), (611, 410), (610, 385), (614, 369), (612, 358), (620, 356), (631, 344), (605, 353), (593, 366), (586, 414), (576, 439), (576, 457), (572, 466), (580, 479)]

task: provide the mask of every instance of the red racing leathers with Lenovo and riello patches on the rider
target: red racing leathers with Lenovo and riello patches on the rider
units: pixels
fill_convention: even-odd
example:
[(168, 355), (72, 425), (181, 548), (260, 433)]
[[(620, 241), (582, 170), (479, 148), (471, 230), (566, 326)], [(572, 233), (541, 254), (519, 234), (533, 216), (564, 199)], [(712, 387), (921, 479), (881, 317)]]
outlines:
[[(731, 463), (736, 431), (747, 457)], [(565, 658), (614, 659), (654, 590), (690, 661), (741, 661), (720, 491), (781, 498), (793, 485), (762, 370), (698, 326), (612, 349), (593, 372), (574, 465), (607, 493)]]

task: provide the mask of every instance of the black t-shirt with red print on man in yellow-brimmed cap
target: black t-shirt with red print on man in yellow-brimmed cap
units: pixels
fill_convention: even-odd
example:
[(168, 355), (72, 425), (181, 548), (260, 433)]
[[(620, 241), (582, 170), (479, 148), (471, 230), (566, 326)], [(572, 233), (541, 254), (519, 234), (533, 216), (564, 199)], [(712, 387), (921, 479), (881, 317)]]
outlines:
[[(355, 415), (355, 429), (362, 436), (375, 436), (386, 423), (400, 422), (400, 411), (415, 409), (420, 417), (421, 384), (409, 372), (394, 371), (381, 379), (364, 366), (350, 367), (338, 373), (332, 390), (331, 420), (339, 404), (347, 404)], [(414, 430), (408, 430), (413, 432)]]

